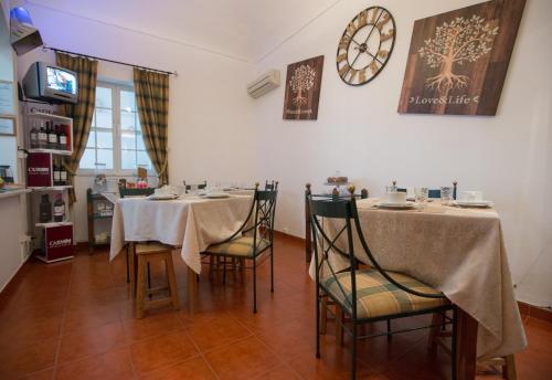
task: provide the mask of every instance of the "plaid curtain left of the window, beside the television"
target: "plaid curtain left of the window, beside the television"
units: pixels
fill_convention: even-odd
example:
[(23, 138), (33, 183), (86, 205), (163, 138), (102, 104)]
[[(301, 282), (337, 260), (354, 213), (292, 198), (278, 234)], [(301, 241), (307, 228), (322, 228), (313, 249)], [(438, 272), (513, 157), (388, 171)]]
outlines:
[[(64, 160), (67, 170), (67, 181), (75, 183), (75, 173), (78, 170), (78, 162), (83, 157), (88, 134), (92, 126), (92, 116), (96, 103), (96, 78), (98, 62), (82, 56), (71, 56), (63, 53), (55, 53), (57, 65), (77, 73), (78, 102), (61, 106), (63, 115), (73, 118), (73, 155)], [(70, 204), (76, 202), (74, 188), (70, 190)]]

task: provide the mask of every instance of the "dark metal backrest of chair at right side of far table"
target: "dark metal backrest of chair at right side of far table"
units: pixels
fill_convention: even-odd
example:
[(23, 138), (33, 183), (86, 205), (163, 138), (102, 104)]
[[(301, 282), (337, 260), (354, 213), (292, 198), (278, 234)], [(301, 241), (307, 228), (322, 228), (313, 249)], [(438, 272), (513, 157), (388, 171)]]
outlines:
[(258, 190), (258, 183), (256, 183), (247, 218), (236, 232), (217, 244), (226, 243), (240, 234), (252, 234), (255, 251), (258, 251), (262, 240), (267, 240), (272, 245), (277, 197), (277, 190)]

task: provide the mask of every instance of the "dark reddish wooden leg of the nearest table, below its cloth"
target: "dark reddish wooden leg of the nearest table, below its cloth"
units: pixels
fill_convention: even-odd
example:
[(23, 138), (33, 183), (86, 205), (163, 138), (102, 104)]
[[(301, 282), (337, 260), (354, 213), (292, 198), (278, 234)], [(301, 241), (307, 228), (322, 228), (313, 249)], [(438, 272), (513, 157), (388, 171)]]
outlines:
[(456, 338), (456, 379), (473, 380), (476, 377), (477, 320), (458, 308)]

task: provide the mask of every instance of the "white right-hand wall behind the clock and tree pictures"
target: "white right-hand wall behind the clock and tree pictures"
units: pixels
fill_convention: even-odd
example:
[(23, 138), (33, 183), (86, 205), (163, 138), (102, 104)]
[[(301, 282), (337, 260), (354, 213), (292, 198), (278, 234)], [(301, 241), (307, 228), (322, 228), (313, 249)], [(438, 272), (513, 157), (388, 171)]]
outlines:
[[(396, 22), (394, 52), (371, 83), (351, 87), (337, 74), (335, 56), (348, 22), (364, 1), (341, 1), (257, 65), (282, 70), (326, 56), (317, 122), (282, 119), (285, 87), (256, 103), (257, 176), (280, 180), (277, 228), (304, 235), (306, 182), (320, 184), (335, 170), (378, 196), (402, 186), (438, 187), (454, 178), (480, 189), (502, 217), (519, 297), (552, 304), (552, 39), (549, 0), (528, 0), (496, 117), (400, 115), (414, 20), (479, 0), (381, 0)], [(529, 271), (529, 272), (528, 272)]]

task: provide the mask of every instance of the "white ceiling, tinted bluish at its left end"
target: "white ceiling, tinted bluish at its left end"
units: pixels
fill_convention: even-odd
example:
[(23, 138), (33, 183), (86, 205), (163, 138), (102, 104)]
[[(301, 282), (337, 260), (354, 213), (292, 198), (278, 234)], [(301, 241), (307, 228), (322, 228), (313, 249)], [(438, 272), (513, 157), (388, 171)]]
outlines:
[(28, 0), (256, 62), (340, 0)]

